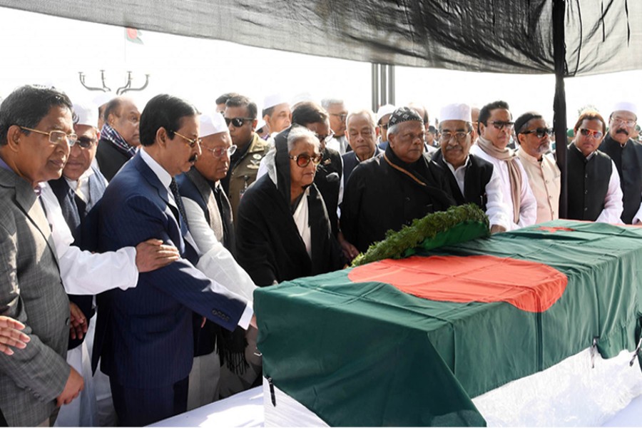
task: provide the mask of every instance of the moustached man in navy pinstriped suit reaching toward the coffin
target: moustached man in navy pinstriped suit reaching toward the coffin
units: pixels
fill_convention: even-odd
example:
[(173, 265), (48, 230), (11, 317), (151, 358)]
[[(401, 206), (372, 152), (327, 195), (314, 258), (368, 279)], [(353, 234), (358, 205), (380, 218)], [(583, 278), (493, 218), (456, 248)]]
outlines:
[(181, 256), (141, 273), (135, 289), (109, 291), (99, 303), (109, 310), (103, 313), (101, 307), (98, 314), (93, 357), (102, 358), (101, 370), (110, 377), (114, 407), (125, 426), (185, 412), (193, 312), (228, 330), (247, 328), (253, 318), (247, 300), (194, 267), (200, 252), (173, 177), (187, 172), (200, 155), (198, 131), (197, 112), (189, 103), (164, 94), (152, 98), (141, 115), (143, 148), (98, 202), (101, 250), (159, 238), (173, 243)]

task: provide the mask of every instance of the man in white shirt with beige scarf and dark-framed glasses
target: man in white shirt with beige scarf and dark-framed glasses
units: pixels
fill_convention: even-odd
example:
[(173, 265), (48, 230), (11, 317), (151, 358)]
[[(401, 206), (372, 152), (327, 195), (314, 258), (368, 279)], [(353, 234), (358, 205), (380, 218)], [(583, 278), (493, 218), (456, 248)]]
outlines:
[(471, 149), (472, 154), (492, 163), (499, 174), (501, 193), (510, 213), (509, 230), (533, 225), (537, 218), (537, 202), (528, 175), (515, 151), (508, 147), (513, 125), (508, 103), (486, 104), (479, 111), (479, 137)]

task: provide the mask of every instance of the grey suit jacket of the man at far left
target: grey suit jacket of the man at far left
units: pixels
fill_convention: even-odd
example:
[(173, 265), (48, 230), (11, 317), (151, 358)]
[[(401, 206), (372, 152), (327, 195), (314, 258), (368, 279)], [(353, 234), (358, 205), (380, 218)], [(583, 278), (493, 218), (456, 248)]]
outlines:
[(29, 427), (54, 411), (69, 376), (69, 301), (34, 189), (0, 168), (0, 201), (0, 315), (31, 337), (24, 350), (0, 353), (0, 408), (9, 426)]

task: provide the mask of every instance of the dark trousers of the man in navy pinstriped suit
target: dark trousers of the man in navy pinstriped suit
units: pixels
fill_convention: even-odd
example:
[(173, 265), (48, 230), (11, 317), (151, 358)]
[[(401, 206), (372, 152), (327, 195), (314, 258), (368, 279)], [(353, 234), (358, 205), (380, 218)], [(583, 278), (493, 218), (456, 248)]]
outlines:
[(109, 378), (121, 427), (144, 427), (187, 411), (189, 377), (162, 388), (123, 387)]

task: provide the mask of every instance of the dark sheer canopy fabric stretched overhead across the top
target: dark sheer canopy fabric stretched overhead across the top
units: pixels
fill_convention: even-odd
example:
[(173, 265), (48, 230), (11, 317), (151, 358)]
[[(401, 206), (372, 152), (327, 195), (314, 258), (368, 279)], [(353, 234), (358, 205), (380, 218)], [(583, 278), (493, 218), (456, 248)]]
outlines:
[[(554, 73), (553, 2), (0, 0), (0, 6), (355, 61)], [(566, 0), (565, 19), (567, 76), (642, 68), (641, 1)]]

